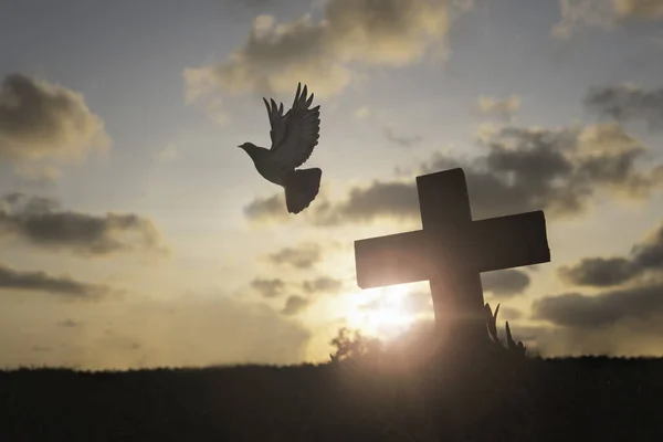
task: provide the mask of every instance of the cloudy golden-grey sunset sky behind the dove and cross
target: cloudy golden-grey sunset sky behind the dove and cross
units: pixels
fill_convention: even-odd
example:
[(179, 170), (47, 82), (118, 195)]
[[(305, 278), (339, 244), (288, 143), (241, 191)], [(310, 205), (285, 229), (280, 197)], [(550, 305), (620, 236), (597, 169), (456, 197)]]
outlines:
[[(0, 366), (323, 361), (432, 318), (354, 241), (544, 210), (551, 262), (482, 274), (543, 356), (663, 354), (663, 1), (0, 0)], [(320, 105), (285, 209), (236, 146)]]

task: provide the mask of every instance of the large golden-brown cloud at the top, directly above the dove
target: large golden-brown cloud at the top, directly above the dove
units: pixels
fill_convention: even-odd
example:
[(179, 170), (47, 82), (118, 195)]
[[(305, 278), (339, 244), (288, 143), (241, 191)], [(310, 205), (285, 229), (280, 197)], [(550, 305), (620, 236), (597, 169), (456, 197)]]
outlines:
[(444, 0), (330, 0), (319, 21), (259, 15), (223, 63), (185, 71), (188, 101), (214, 92), (290, 94), (297, 82), (316, 96), (337, 94), (360, 66), (404, 66), (441, 48), (449, 13)]

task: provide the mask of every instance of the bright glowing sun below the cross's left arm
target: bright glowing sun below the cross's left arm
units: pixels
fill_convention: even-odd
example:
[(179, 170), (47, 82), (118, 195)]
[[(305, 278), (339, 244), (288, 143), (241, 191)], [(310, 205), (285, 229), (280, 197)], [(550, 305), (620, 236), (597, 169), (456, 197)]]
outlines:
[(412, 323), (404, 306), (407, 285), (367, 290), (356, 297), (347, 317), (349, 327), (365, 335), (390, 338), (406, 332)]

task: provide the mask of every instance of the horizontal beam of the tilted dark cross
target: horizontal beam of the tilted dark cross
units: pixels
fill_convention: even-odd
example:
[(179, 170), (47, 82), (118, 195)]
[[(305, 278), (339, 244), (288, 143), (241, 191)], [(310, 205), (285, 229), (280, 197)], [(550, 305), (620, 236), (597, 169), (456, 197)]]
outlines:
[(355, 241), (357, 284), (373, 288), (428, 281), (440, 273), (440, 260), (462, 260), (462, 267), (474, 272), (550, 261), (540, 210), (473, 221), (460, 239), (441, 235), (418, 230)]

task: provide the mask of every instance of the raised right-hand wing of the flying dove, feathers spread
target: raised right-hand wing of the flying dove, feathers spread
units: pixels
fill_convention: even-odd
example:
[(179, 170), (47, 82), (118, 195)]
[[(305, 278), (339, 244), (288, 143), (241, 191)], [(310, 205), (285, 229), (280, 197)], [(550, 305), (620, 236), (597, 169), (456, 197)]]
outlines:
[[(299, 83), (293, 107), (281, 118), (278, 131), (272, 129), (273, 158), (284, 168), (295, 169), (302, 166), (318, 144), (320, 106), (309, 108), (313, 94), (309, 97), (307, 94), (306, 85), (302, 91), (302, 83)], [(283, 113), (283, 104), (281, 106), (281, 112), (276, 115)], [(274, 125), (272, 127), (274, 128)]]

